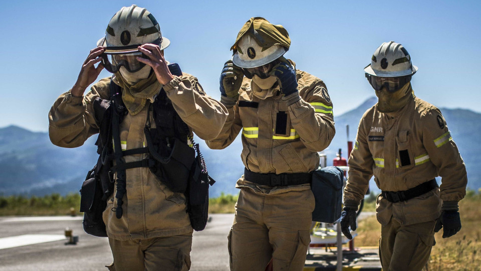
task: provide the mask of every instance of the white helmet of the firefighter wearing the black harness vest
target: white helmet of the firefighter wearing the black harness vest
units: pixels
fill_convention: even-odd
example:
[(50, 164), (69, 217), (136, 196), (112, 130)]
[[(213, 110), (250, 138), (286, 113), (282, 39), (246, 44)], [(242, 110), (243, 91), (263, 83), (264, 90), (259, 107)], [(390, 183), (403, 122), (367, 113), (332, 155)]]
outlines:
[(146, 43), (156, 44), (160, 50), (170, 45), (170, 41), (162, 37), (154, 16), (146, 9), (132, 5), (123, 7), (110, 19), (105, 37), (97, 42), (97, 46), (106, 46), (107, 54), (121, 54), (135, 52), (138, 46)]

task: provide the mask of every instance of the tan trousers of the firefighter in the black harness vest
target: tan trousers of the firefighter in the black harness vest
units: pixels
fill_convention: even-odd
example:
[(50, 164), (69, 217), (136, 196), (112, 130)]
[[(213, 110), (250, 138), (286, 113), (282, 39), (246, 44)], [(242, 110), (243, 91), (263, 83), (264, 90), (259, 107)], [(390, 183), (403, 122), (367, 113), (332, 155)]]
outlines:
[(143, 240), (109, 238), (116, 271), (172, 270), (190, 268), (192, 233)]

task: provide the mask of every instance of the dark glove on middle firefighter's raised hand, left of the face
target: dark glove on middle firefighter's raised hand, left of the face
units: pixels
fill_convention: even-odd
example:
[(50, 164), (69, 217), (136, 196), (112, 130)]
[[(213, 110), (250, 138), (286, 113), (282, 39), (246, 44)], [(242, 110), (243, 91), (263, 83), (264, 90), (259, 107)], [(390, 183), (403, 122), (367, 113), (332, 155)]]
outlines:
[(231, 60), (225, 62), (219, 79), (220, 94), (224, 97), (237, 98), (243, 78), (242, 69), (235, 66)]

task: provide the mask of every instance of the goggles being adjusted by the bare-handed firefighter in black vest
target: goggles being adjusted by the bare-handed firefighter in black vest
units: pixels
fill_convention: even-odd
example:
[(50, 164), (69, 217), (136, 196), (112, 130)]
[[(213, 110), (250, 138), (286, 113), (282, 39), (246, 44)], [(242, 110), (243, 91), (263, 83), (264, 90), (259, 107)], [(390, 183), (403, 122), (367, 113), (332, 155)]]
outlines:
[(147, 58), (144, 54), (139, 51), (135, 51), (128, 54), (102, 54), (102, 64), (105, 69), (111, 73), (116, 73), (120, 70), (120, 67), (125, 67), (129, 72), (136, 72), (145, 66), (137, 60), (137, 57)]

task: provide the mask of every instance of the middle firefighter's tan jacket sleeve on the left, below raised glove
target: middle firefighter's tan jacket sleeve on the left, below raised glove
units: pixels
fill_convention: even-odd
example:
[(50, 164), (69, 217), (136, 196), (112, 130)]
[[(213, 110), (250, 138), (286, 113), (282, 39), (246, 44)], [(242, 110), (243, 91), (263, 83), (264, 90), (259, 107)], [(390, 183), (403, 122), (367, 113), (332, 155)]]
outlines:
[[(228, 97), (221, 97), (221, 101), (223, 99), (231, 99)], [(232, 104), (232, 101), (228, 100), (228, 104)], [(235, 103), (233, 106), (226, 105), (227, 111), (229, 115), (227, 116), (227, 120), (225, 120), (224, 126), (220, 130), (219, 135), (215, 139), (205, 141), (207, 146), (213, 150), (222, 150), (227, 148), (237, 137), (240, 129), (242, 129), (242, 121), (239, 117), (239, 107), (238, 103)]]

